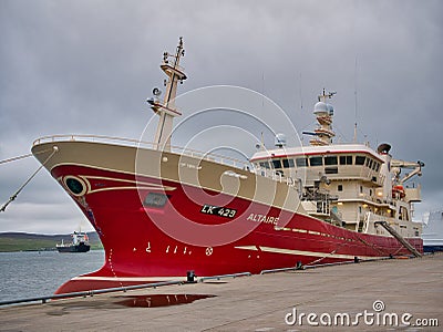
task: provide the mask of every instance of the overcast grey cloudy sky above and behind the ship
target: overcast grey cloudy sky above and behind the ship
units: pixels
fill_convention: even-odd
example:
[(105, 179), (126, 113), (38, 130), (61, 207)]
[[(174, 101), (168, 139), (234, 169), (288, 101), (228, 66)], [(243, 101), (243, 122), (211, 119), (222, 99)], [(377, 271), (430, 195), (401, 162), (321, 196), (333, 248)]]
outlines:
[[(357, 120), (360, 142), (389, 142), (394, 157), (426, 164), (421, 219), (443, 206), (442, 12), (439, 0), (0, 0), (0, 159), (42, 135), (138, 138), (152, 115), (145, 100), (164, 79), (162, 53), (183, 35), (181, 93), (244, 86), (301, 132), (313, 127), (321, 90), (337, 91), (338, 139), (352, 139)], [(0, 203), (38, 166), (0, 165)], [(0, 212), (0, 231), (69, 232), (81, 220), (44, 170)]]

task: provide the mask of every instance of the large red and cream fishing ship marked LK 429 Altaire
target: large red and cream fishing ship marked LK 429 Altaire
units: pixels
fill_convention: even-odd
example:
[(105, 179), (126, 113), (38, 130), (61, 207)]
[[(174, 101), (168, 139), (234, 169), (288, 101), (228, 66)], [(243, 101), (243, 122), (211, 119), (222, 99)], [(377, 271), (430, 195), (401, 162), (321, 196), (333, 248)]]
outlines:
[[(179, 40), (164, 53), (163, 101), (154, 142), (58, 135), (35, 139), (33, 155), (97, 231), (105, 262), (58, 293), (423, 251), (413, 204), (421, 162), (394, 159), (390, 145), (334, 144), (334, 93), (313, 106), (310, 145), (261, 145), (247, 162), (171, 145)], [(223, 137), (220, 137), (222, 139)], [(401, 175), (401, 169), (410, 173)], [(408, 181), (408, 183), (406, 183)]]

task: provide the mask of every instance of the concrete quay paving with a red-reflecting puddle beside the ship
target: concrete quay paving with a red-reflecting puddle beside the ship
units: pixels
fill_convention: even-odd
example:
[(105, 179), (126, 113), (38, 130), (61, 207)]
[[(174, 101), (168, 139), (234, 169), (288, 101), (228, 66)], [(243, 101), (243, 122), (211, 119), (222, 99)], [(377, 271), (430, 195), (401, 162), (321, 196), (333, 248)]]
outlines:
[[(186, 299), (195, 301), (177, 304)], [(309, 314), (318, 325), (308, 322)], [(437, 320), (440, 326), (414, 325), (418, 320), (427, 325)], [(442, 331), (442, 253), (0, 308), (0, 331)]]

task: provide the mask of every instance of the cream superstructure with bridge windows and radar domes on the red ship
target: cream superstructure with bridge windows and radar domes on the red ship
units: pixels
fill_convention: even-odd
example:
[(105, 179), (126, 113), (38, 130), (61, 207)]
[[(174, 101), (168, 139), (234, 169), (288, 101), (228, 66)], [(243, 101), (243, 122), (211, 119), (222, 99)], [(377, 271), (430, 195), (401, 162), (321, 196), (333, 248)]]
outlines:
[[(388, 144), (377, 151), (364, 144), (332, 144), (333, 108), (326, 104), (330, 96), (323, 93), (315, 106), (318, 120), (321, 116), (313, 134), (319, 138), (310, 146), (257, 152), (251, 158), (256, 172), (292, 178), (300, 188), (301, 206), (317, 218), (358, 232), (390, 236), (375, 224), (387, 221), (402, 237), (420, 237), (421, 224), (412, 217), (421, 188), (405, 181), (420, 176), (424, 164), (393, 159)], [(413, 170), (400, 178), (401, 168)]]

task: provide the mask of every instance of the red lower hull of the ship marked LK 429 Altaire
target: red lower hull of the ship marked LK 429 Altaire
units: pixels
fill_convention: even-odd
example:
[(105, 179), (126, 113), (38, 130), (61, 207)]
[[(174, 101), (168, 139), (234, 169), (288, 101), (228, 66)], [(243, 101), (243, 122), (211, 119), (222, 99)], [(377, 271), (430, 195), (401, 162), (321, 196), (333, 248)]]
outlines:
[[(259, 273), (300, 262), (409, 253), (392, 237), (350, 231), (310, 216), (181, 183), (75, 165), (55, 166), (51, 174), (62, 185), (66, 178), (76, 178), (87, 187), (83, 196), (68, 193), (105, 249), (100, 270), (73, 278), (56, 293), (184, 279), (189, 270), (198, 277)], [(159, 187), (174, 188), (167, 193), (166, 204), (146, 207), (143, 197), (158, 193)], [(197, 201), (227, 206), (236, 210), (235, 220), (203, 212), (205, 207)], [(420, 238), (409, 241), (422, 252)]]

